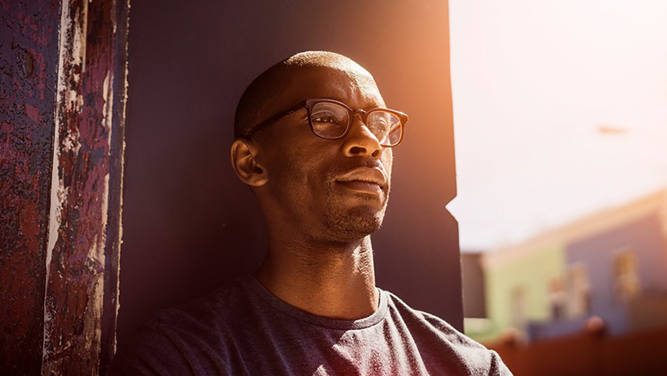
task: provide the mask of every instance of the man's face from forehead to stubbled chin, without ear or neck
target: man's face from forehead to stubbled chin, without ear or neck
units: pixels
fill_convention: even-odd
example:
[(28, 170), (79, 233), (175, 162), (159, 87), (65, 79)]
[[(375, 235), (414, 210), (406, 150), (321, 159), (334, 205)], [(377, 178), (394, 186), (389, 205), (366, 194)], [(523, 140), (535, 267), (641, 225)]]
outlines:
[[(364, 73), (299, 69), (273, 113), (313, 98), (338, 100), (353, 109), (384, 107), (376, 83)], [(340, 140), (315, 136), (305, 108), (263, 133), (258, 158), (281, 220), (313, 240), (356, 240), (380, 228), (389, 198), (392, 150), (380, 146), (361, 116), (354, 116), (350, 132)]]

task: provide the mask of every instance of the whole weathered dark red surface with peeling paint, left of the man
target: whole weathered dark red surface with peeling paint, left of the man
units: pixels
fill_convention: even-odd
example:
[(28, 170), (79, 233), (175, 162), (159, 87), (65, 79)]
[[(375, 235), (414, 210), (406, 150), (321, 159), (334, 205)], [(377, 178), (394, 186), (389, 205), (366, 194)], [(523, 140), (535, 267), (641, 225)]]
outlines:
[(2, 6), (0, 369), (97, 374), (115, 349), (129, 4)]

